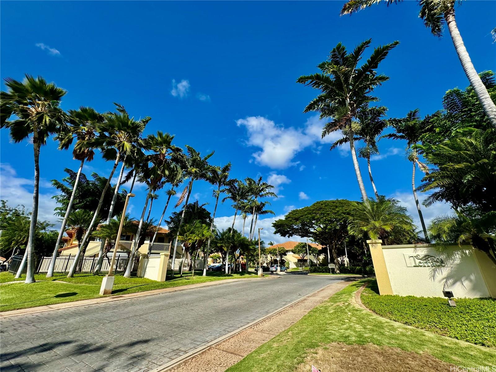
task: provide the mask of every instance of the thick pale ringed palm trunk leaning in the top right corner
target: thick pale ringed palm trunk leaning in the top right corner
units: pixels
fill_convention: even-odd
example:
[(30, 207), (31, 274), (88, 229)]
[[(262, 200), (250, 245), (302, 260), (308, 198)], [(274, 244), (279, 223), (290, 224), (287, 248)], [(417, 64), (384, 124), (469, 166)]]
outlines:
[(474, 92), (484, 109), (484, 112), (488, 116), (489, 121), (496, 127), (496, 105), (491, 99), (491, 96), (486, 89), (486, 86), (483, 84), (479, 74), (474, 68), (474, 64), (470, 60), (470, 56), (463, 44), (462, 37), (460, 35), (460, 31), (458, 30), (458, 26), (456, 25), (455, 20), (455, 9), (451, 5), (447, 11), (444, 12), (444, 19), (446, 20), (446, 24), (448, 25), (449, 34), (451, 35), (451, 39), (453, 40), (453, 45), (455, 46), (456, 53), (458, 54), (458, 58), (462, 64), (463, 70), (470, 81), (470, 85), (474, 88)]

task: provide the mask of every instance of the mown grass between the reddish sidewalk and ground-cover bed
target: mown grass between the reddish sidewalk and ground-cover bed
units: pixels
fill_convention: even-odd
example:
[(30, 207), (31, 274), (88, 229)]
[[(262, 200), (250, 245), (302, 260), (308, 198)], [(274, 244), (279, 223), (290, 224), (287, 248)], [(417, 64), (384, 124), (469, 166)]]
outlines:
[[(330, 355), (332, 352), (339, 355), (344, 349), (341, 345), (353, 345), (358, 349), (356, 354), (348, 356), (346, 363), (362, 358), (362, 350), (373, 347), (387, 353), (404, 353), (410, 360), (412, 356), (416, 356), (419, 363), (427, 360), (430, 354), (455, 366), (496, 366), (494, 348), (473, 345), (408, 327), (359, 308), (354, 304), (353, 296), (362, 284), (368, 281), (370, 280), (364, 279), (350, 284), (227, 371), (309, 371), (312, 358), (317, 353)], [(372, 354), (370, 355), (372, 360)], [(391, 362), (388, 355), (390, 354), (385, 354), (384, 363)], [(332, 364), (332, 361), (329, 363)], [(340, 370), (356, 369), (346, 367)], [(387, 369), (397, 370), (398, 364), (396, 369)]]

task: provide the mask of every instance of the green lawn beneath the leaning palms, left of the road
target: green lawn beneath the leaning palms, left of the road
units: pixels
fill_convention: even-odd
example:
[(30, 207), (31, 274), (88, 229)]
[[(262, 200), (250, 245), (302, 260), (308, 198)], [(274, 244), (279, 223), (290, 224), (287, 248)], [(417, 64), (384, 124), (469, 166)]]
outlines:
[[(195, 271), (194, 277), (191, 272), (186, 272), (183, 278), (179, 274), (174, 279), (165, 282), (156, 282), (146, 278), (124, 278), (116, 275), (112, 295), (124, 295), (126, 293), (149, 291), (153, 289), (184, 286), (187, 284), (198, 284), (225, 279), (257, 278), (254, 273), (240, 273), (224, 275), (218, 272), (208, 272), (206, 277), (201, 276), (202, 271)], [(99, 295), (100, 285), (104, 275), (76, 274), (73, 278), (67, 278), (66, 274), (55, 274), (47, 279), (45, 274), (35, 275), (36, 283), (24, 284), (19, 278), (19, 283), (4, 284), (0, 286), (0, 311), (32, 308), (36, 306), (53, 305), (78, 300), (88, 300)], [(0, 273), (0, 282), (14, 281), (14, 275), (8, 272)], [(68, 283), (59, 283), (64, 281)]]

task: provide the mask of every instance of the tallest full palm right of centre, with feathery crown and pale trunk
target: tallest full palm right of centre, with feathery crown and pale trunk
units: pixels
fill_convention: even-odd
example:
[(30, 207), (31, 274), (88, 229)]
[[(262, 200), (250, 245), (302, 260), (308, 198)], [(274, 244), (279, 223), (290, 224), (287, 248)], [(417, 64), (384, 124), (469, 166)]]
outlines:
[(348, 53), (346, 48), (339, 43), (331, 51), (329, 60), (318, 65), (321, 73), (301, 76), (297, 80), (301, 84), (310, 85), (321, 91), (307, 105), (304, 112), (317, 111), (320, 113), (320, 119), (329, 118), (331, 120), (325, 124), (322, 137), (336, 130), (346, 130), (358, 186), (365, 203), (368, 202), (369, 198), (358, 165), (352, 121), (357, 118), (360, 107), (369, 102), (378, 101), (378, 98), (371, 96), (371, 93), (375, 87), (387, 81), (389, 77), (377, 74), (375, 70), (378, 64), (386, 58), (389, 51), (399, 44), (395, 41), (375, 48), (367, 62), (358, 66), (363, 53), (371, 42), (372, 40), (369, 39), (359, 44), (353, 53)]

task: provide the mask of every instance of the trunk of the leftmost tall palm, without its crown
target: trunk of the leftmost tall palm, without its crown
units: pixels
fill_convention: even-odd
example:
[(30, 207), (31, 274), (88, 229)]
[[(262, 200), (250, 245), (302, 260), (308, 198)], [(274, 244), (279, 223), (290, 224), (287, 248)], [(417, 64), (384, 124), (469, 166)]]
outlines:
[[(31, 212), (31, 223), (29, 224), (29, 239), (26, 250), (28, 252), (26, 281), (25, 283), (34, 283), (34, 234), (36, 232), (36, 222), (38, 221), (38, 198), (40, 192), (40, 141), (38, 131), (33, 133), (33, 150), (34, 150), (34, 191), (33, 191), (33, 209)], [(21, 270), (22, 271), (22, 270)]]

